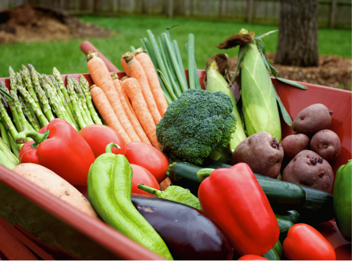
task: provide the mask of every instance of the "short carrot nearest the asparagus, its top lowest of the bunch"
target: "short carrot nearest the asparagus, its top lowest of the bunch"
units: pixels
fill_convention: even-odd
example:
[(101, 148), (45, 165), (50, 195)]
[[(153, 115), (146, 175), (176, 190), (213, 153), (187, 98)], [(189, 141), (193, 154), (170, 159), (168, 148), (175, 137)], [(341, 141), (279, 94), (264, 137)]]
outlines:
[(99, 111), (101, 117), (108, 124), (110, 128), (118, 132), (122, 138), (125, 140), (126, 144), (132, 142), (129, 135), (125, 132), (124, 128), (121, 126), (120, 121), (116, 117), (116, 114), (112, 107), (110, 106), (109, 100), (106, 97), (103, 90), (96, 85), (90, 87), (90, 95), (92, 97), (93, 103), (97, 110)]

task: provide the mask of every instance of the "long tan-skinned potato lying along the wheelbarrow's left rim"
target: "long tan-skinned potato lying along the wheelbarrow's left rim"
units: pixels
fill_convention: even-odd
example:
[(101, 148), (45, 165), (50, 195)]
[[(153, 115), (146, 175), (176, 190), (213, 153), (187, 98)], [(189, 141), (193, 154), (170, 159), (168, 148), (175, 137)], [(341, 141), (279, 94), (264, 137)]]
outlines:
[(12, 169), (60, 200), (72, 205), (88, 216), (99, 219), (88, 200), (71, 184), (49, 169), (33, 163), (22, 163)]

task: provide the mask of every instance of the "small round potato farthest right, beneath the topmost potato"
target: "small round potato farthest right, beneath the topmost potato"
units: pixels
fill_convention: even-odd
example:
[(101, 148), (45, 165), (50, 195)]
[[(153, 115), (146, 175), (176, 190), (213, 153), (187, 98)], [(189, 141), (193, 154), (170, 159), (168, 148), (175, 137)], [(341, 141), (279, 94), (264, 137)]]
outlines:
[(338, 135), (331, 130), (316, 132), (311, 141), (310, 149), (319, 154), (328, 162), (336, 160), (341, 151), (341, 141)]

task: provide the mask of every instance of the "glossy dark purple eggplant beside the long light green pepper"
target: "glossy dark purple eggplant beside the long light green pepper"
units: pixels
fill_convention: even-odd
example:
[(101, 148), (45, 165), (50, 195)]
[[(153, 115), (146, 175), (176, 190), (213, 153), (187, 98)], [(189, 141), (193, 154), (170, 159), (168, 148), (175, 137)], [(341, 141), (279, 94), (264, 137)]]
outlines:
[(132, 194), (134, 207), (154, 227), (175, 260), (231, 260), (234, 248), (222, 230), (191, 206)]

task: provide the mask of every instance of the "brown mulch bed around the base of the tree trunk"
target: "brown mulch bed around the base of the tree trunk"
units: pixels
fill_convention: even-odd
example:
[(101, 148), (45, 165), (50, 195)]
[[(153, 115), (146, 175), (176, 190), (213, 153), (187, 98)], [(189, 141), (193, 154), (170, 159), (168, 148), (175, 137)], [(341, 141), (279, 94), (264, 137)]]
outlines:
[[(351, 90), (352, 60), (338, 56), (319, 55), (318, 67), (284, 66), (275, 64), (275, 53), (266, 53), (279, 77), (289, 80)], [(232, 71), (236, 70), (237, 57), (230, 58)]]

